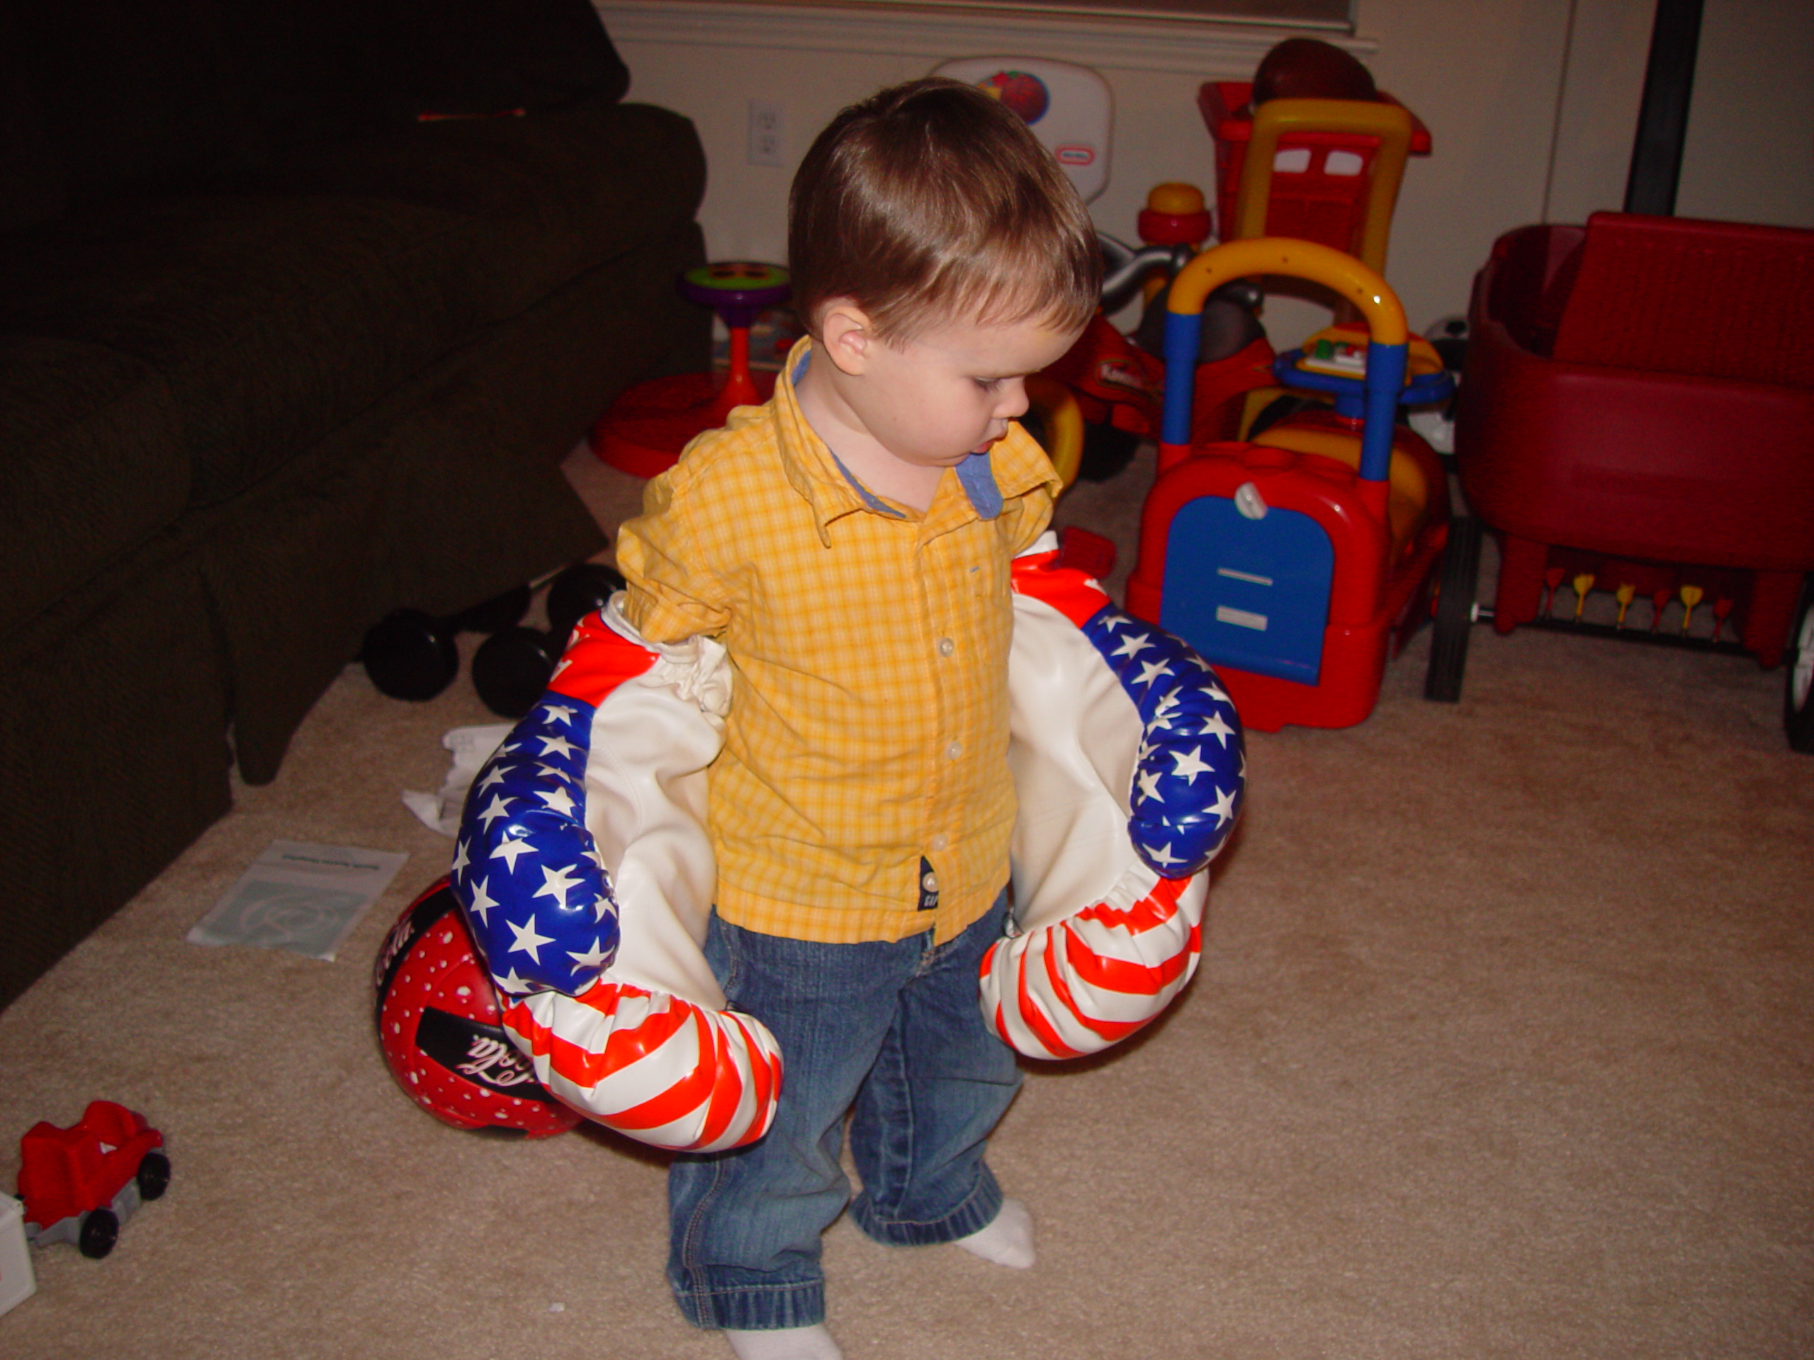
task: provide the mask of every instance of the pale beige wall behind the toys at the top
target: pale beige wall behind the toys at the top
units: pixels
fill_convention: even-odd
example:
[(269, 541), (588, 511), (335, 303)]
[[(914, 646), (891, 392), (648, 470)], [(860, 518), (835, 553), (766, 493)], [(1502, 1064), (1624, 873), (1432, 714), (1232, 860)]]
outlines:
[[(1116, 98), (1097, 225), (1134, 239), (1146, 190), (1212, 189), (1204, 80), (1248, 78), (1282, 33), (1201, 24), (840, 11), (731, 0), (599, 0), (631, 98), (698, 125), (700, 221), (718, 257), (785, 257), (793, 163), (845, 103), (952, 56), (1081, 62)], [(1429, 125), (1393, 219), (1386, 274), (1413, 325), (1464, 310), (1493, 239), (1618, 209), (1654, 0), (1359, 0), (1353, 49)], [(1573, 40), (1571, 40), (1573, 18)], [(747, 163), (747, 102), (784, 105), (785, 167)], [(1678, 212), (1814, 227), (1814, 4), (1707, 0)], [(1553, 158), (1555, 156), (1555, 158)], [(1553, 158), (1553, 160), (1551, 160)], [(1286, 303), (1275, 341), (1321, 317)]]

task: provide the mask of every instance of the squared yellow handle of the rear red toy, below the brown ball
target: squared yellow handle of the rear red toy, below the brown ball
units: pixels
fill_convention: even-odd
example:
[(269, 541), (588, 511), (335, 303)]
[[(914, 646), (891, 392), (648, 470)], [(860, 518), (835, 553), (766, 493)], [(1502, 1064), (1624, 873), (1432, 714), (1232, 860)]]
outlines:
[(1371, 183), (1366, 198), (1366, 225), (1360, 228), (1360, 259), (1375, 270), (1386, 268), (1386, 238), (1391, 234), (1391, 209), (1399, 201), (1404, 161), (1411, 154), (1411, 111), (1400, 103), (1364, 100), (1266, 100), (1253, 112), (1246, 160), (1241, 163), (1241, 189), (1235, 194), (1234, 238), (1252, 239), (1266, 232), (1272, 201), (1272, 161), (1279, 140), (1293, 132), (1350, 132), (1379, 138), (1373, 152)]

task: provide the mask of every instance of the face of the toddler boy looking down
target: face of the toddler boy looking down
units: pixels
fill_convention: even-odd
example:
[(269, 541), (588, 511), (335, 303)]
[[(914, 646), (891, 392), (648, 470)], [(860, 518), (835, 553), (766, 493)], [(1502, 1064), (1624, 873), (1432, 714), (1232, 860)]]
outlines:
[(949, 468), (981, 453), (1027, 412), (1027, 375), (1078, 339), (1047, 319), (947, 323), (907, 341), (871, 343), (849, 403), (865, 432), (918, 468)]

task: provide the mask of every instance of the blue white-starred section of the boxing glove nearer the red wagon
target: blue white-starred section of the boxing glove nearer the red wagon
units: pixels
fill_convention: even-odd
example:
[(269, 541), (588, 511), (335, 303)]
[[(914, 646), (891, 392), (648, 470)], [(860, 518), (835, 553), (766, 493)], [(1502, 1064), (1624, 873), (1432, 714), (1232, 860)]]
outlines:
[(1083, 626), (1143, 725), (1128, 838), (1165, 878), (1190, 878), (1215, 858), (1246, 794), (1241, 716), (1195, 649), (1112, 604)]

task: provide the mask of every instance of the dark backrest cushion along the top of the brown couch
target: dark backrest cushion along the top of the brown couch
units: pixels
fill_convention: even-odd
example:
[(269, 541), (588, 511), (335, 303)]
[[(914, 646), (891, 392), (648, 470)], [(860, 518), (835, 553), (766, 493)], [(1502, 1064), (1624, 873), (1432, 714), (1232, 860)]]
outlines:
[[(0, 13), (0, 143), (34, 151), (42, 107), (60, 174), (27, 183), (78, 201), (185, 187), (424, 112), (615, 102), (628, 87), (590, 0), (45, 0)], [(0, 189), (16, 158), (0, 154)], [(0, 203), (0, 230), (20, 218)]]

